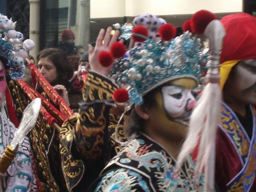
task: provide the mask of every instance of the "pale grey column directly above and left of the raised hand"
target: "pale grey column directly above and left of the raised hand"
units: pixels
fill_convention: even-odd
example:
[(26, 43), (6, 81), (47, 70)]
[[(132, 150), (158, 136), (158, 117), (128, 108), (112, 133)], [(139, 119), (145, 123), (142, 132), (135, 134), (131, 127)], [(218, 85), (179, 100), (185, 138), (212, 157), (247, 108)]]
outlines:
[(80, 5), (78, 44), (87, 50), (90, 43), (90, 0), (80, 0)]

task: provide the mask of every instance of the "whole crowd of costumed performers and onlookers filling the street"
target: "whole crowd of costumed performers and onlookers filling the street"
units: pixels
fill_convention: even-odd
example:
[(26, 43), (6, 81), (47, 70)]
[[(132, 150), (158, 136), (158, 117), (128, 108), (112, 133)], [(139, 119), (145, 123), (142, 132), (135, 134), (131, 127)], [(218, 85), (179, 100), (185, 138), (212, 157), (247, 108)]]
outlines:
[(1, 18), (0, 191), (256, 191), (255, 17), (201, 10), (175, 28), (138, 15), (87, 52), (65, 29), (36, 61)]

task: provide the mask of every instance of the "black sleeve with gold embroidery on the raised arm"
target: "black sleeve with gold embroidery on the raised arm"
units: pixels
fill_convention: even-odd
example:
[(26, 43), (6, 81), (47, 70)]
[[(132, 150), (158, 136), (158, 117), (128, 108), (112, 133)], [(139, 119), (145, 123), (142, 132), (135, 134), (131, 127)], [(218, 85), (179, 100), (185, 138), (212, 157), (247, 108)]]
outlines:
[[(117, 85), (97, 73), (90, 72), (82, 89), (84, 102), (80, 104), (76, 123), (75, 142), (85, 159), (97, 159), (109, 151), (109, 111)], [(104, 151), (104, 154), (103, 154)]]

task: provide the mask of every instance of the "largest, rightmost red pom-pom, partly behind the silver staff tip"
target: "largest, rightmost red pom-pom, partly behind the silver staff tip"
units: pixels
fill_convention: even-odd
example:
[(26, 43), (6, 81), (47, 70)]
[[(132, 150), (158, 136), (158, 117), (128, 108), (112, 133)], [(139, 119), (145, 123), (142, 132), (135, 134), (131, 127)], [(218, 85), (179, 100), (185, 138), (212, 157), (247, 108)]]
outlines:
[(200, 35), (204, 34), (204, 30), (207, 25), (215, 19), (217, 19), (216, 15), (207, 10), (200, 10), (196, 12), (190, 21), (192, 32)]

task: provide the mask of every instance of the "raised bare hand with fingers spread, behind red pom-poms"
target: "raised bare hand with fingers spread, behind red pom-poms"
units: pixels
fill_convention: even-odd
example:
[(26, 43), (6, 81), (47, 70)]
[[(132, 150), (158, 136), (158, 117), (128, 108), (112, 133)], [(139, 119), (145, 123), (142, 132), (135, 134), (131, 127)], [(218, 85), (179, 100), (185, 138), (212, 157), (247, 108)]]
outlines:
[[(96, 46), (93, 48), (91, 45), (89, 45), (89, 64), (90, 64), (90, 69), (100, 73), (102, 75), (108, 76), (113, 64), (109, 67), (103, 67), (99, 61), (98, 57), (100, 52), (102, 51), (109, 51), (111, 45), (117, 41), (117, 38), (119, 36), (119, 31), (116, 30), (115, 34), (111, 38), (111, 27), (108, 27), (108, 29), (105, 30), (101, 29), (99, 31), (99, 35), (96, 40)], [(104, 36), (105, 34), (105, 36)], [(104, 37), (104, 38), (103, 38)], [(104, 40), (104, 42), (103, 42)]]

